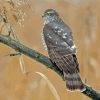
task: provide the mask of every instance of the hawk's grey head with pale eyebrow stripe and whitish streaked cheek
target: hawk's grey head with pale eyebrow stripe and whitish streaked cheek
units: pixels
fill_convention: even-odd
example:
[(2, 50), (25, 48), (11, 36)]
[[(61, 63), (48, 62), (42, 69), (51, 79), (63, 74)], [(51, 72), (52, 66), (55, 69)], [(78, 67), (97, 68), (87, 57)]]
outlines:
[(44, 11), (44, 14), (42, 16), (44, 18), (45, 24), (59, 19), (59, 14), (54, 9), (47, 9)]

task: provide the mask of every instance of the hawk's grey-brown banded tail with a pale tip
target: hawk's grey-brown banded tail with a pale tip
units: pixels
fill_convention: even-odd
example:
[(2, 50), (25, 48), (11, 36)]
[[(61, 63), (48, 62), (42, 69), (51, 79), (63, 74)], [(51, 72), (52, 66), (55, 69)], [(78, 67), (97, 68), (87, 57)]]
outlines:
[(66, 87), (68, 88), (68, 90), (70, 91), (75, 91), (75, 90), (84, 91), (85, 90), (85, 86), (78, 73), (74, 73), (74, 74), (64, 73), (64, 78), (65, 78)]

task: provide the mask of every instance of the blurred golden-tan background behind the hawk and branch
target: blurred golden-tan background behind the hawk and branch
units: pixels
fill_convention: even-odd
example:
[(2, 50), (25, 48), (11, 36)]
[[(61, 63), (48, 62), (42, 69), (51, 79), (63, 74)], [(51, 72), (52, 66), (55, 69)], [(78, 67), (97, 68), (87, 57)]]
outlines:
[[(0, 14), (6, 10), (18, 39), (47, 55), (41, 39), (42, 13), (56, 9), (71, 27), (77, 45), (82, 80), (100, 91), (100, 1), (99, 0), (0, 0)], [(7, 32), (0, 22), (0, 34)], [(60, 100), (90, 100), (79, 92), (68, 92), (55, 72), (33, 59), (22, 56), (28, 74), (21, 71), (20, 56), (5, 56), (15, 51), (0, 44), (0, 100), (56, 100), (43, 73), (55, 87)]]

